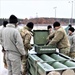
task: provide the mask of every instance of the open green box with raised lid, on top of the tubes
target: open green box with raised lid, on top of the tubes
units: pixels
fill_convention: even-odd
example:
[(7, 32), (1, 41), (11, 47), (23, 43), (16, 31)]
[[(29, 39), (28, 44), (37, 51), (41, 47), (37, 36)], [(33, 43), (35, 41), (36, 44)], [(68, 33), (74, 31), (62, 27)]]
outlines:
[(49, 35), (48, 30), (34, 30), (34, 47), (37, 53), (54, 53), (56, 52), (55, 45), (46, 46), (47, 37)]

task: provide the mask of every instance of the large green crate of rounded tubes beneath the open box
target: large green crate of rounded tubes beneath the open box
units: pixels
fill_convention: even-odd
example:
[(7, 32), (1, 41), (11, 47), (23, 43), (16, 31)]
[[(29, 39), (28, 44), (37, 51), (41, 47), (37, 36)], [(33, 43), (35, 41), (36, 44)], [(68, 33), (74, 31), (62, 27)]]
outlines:
[(75, 71), (75, 61), (60, 53), (29, 54), (28, 61), (30, 75), (48, 75), (52, 71), (57, 71), (62, 75), (66, 70)]

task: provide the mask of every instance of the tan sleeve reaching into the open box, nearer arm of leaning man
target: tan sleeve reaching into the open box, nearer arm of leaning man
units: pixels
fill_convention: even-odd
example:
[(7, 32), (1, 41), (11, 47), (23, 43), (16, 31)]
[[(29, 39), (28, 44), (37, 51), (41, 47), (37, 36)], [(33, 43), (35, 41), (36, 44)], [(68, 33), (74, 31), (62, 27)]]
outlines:
[(54, 35), (54, 38), (50, 41), (49, 44), (53, 45), (58, 43), (63, 38), (63, 32), (57, 31)]

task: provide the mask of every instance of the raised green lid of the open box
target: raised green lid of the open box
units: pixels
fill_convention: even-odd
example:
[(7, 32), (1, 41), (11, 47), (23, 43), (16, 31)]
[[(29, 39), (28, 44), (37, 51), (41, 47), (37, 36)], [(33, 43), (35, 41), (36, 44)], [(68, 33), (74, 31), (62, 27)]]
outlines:
[(44, 45), (46, 44), (47, 40), (46, 38), (49, 35), (49, 31), (48, 30), (33, 30), (34, 33), (34, 44), (36, 45)]

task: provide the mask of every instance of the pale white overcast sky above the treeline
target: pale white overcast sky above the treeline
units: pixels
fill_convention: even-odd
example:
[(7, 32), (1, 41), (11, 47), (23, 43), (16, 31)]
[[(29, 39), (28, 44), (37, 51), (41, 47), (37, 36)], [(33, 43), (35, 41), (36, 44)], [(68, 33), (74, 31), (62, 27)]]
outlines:
[(75, 19), (75, 0), (0, 0), (0, 18), (9, 18), (11, 14), (22, 19), (35, 17)]

